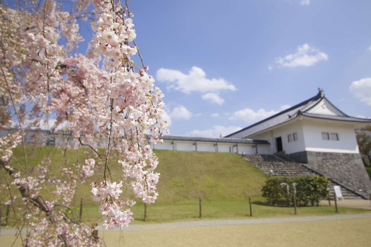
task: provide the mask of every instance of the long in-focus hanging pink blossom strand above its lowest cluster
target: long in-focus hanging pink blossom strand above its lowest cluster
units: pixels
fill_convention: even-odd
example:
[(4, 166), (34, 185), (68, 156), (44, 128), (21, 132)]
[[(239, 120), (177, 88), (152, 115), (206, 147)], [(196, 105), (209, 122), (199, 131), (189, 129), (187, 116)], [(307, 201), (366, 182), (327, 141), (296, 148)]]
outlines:
[[(138, 48), (135, 43), (131, 45), (136, 34), (133, 20), (125, 18), (125, 10), (128, 11), (120, 4), (108, 4), (97, 21), (94, 49), (105, 56), (104, 64), (111, 77), (111, 83), (107, 85), (111, 107), (102, 112), (100, 128), (109, 138), (119, 140), (124, 137), (119, 147), (115, 147), (122, 156), (118, 162), (123, 176), (134, 178), (130, 185), (136, 197), (142, 198), (144, 203), (154, 203), (160, 174), (153, 172), (158, 161), (146, 138), (149, 135), (150, 142), (161, 141), (162, 130), (167, 129), (167, 121), (162, 120), (164, 103), (161, 99), (164, 95), (154, 87), (155, 80), (147, 73), (148, 67), (131, 60)], [(92, 192), (94, 194), (95, 190)], [(113, 212), (120, 214), (120, 211)], [(105, 211), (101, 213), (104, 215)]]

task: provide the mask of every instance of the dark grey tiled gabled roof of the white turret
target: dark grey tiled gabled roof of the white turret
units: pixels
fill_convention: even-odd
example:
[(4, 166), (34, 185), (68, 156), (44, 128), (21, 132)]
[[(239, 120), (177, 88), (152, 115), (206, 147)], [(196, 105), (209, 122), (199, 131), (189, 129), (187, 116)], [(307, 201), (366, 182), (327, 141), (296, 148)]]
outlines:
[[(314, 113), (307, 113), (313, 107), (315, 107), (322, 99), (326, 99), (328, 103), (330, 103), (336, 110), (338, 110), (343, 116), (330, 116), (330, 115), (323, 115), (323, 114), (314, 114)], [(364, 123), (371, 123), (371, 120), (368, 119), (359, 119), (357, 117), (350, 117), (347, 114), (343, 113), (339, 110), (334, 104), (332, 104), (323, 93), (322, 90), (319, 90), (318, 94), (308, 100), (303, 101), (289, 109), (283, 110), (271, 117), (268, 117), (262, 121), (259, 121), (255, 124), (252, 124), (242, 130), (236, 131), (232, 134), (229, 134), (225, 137), (234, 137), (234, 138), (245, 138), (251, 136), (252, 134), (256, 134), (260, 131), (266, 130), (268, 128), (277, 126), (279, 124), (285, 123), (292, 119), (295, 119), (299, 115), (308, 116), (308, 117), (316, 117), (321, 119), (330, 119), (330, 120), (343, 120), (343, 121), (355, 121), (355, 122), (364, 122)]]

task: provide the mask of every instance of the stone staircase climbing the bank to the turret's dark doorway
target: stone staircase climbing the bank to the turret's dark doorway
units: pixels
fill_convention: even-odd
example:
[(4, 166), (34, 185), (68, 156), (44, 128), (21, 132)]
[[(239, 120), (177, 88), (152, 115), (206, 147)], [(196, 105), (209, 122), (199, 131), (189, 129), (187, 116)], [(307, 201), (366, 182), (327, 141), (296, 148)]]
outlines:
[[(295, 163), (295, 162), (286, 162), (280, 157), (270, 155), (270, 154), (240, 154), (246, 161), (249, 161), (254, 166), (263, 171), (264, 174), (268, 176), (315, 176), (321, 175), (306, 167), (305, 164)], [(285, 157), (286, 158), (286, 157)], [(348, 199), (359, 199), (361, 198), (353, 191), (345, 188), (341, 184), (337, 184), (334, 181), (329, 181), (329, 193), (330, 195), (334, 194), (334, 185), (340, 185), (341, 192), (344, 198)]]

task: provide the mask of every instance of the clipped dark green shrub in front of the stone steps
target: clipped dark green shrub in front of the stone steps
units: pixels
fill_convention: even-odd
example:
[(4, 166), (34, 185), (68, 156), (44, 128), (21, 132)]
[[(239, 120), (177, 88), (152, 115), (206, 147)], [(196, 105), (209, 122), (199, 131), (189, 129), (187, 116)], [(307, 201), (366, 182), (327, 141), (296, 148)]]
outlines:
[[(281, 183), (289, 184), (289, 191)], [(296, 187), (292, 184), (295, 183)], [(328, 180), (321, 176), (295, 176), (295, 177), (270, 177), (263, 186), (263, 197), (267, 198), (270, 205), (292, 205), (293, 194), (296, 190), (296, 204), (313, 206), (321, 198), (328, 197)]]

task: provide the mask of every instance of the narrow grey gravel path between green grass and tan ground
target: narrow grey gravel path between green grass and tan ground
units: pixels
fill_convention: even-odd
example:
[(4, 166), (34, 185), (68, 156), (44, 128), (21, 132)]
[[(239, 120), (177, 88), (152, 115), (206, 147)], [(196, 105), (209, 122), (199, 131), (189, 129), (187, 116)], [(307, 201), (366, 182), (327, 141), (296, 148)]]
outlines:
[[(236, 219), (236, 220), (199, 220), (199, 221), (182, 221), (174, 223), (162, 224), (143, 224), (132, 225), (125, 227), (124, 231), (139, 231), (165, 228), (180, 228), (180, 227), (197, 227), (197, 226), (220, 226), (220, 225), (248, 225), (248, 224), (270, 224), (270, 223), (285, 223), (285, 222), (302, 222), (302, 221), (324, 221), (324, 220), (348, 220), (358, 218), (371, 218), (371, 214), (343, 214), (329, 216), (302, 216), (302, 217), (285, 217), (285, 218), (257, 218), (257, 219)], [(118, 231), (121, 229), (114, 229)], [(99, 226), (99, 231), (107, 231), (102, 226)], [(1, 229), (1, 235), (14, 235), (16, 229)], [(24, 233), (26, 231), (24, 230)]]

